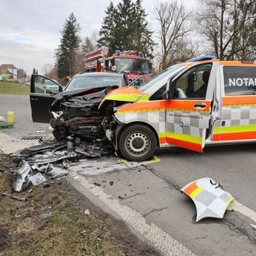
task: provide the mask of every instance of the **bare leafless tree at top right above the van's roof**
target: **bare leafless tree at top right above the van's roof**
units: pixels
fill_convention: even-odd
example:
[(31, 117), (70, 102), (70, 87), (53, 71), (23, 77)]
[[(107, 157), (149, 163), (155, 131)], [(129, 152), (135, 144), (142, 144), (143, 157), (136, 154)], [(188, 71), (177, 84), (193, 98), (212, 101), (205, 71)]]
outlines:
[[(253, 52), (252, 6), (255, 0), (201, 0), (199, 32), (220, 59), (246, 58)], [(250, 28), (250, 29), (249, 29)], [(255, 29), (254, 29), (255, 31)]]

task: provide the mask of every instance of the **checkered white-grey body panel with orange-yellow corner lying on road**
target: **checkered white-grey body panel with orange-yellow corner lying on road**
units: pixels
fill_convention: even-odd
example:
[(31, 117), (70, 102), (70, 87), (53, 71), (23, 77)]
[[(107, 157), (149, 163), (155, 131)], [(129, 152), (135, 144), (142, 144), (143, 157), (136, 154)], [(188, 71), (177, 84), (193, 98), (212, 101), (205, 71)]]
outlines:
[(196, 222), (202, 218), (223, 218), (226, 208), (234, 199), (212, 178), (200, 178), (182, 187), (182, 192), (192, 198), (197, 211)]

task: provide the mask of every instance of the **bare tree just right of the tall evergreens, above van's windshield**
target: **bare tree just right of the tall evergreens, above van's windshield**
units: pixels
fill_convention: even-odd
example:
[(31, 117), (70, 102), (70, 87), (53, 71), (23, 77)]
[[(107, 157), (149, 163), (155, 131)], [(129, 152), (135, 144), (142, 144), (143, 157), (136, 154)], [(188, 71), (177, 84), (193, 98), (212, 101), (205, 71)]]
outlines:
[(158, 21), (160, 31), (158, 39), (161, 42), (162, 69), (174, 62), (190, 58), (186, 37), (190, 32), (187, 26), (189, 12), (183, 4), (160, 2), (154, 7), (154, 18)]

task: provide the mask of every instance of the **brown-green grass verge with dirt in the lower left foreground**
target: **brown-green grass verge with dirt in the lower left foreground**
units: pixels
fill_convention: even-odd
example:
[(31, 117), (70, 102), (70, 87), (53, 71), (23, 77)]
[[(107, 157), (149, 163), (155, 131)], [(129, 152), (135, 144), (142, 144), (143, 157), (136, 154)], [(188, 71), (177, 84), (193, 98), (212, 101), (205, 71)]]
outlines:
[[(0, 154), (0, 194), (12, 193), (12, 168), (18, 167), (10, 156)], [(25, 202), (0, 195), (0, 256), (157, 255), (65, 180), (48, 182), (18, 193)]]

